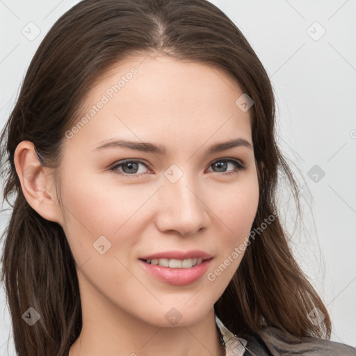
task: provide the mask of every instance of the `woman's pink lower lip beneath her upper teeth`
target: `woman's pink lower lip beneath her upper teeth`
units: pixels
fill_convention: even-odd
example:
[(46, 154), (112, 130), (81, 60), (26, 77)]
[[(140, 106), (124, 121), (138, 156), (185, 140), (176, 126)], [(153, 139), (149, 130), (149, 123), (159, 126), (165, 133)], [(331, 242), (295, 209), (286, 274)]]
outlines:
[(157, 280), (172, 284), (175, 286), (184, 286), (191, 284), (198, 280), (204, 273), (207, 272), (209, 264), (212, 259), (206, 259), (201, 264), (190, 268), (170, 268), (159, 265), (147, 264), (142, 259), (139, 260), (140, 264), (147, 270), (148, 273), (153, 275)]

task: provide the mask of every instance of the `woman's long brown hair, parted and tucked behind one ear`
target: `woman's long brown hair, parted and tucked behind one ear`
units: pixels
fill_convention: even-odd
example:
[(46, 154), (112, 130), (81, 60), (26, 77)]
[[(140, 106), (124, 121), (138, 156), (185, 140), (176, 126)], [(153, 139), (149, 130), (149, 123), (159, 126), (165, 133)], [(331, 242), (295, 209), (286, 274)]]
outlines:
[[(84, 0), (52, 26), (26, 72), (19, 97), (1, 134), (3, 197), (15, 202), (3, 234), (5, 281), (17, 355), (67, 355), (81, 332), (76, 264), (58, 223), (42, 218), (26, 201), (15, 171), (22, 140), (36, 147), (44, 167), (57, 168), (65, 132), (78, 121), (81, 103), (97, 79), (134, 54), (162, 51), (230, 74), (253, 99), (252, 141), (259, 177), (259, 206), (252, 229), (272, 214), (273, 223), (250, 240), (232, 281), (214, 306), (239, 336), (264, 325), (296, 337), (330, 337), (327, 309), (298, 267), (277, 211), (280, 173), (298, 184), (275, 141), (275, 99), (270, 79), (234, 23), (206, 0)], [(260, 228), (261, 229), (261, 228)], [(29, 307), (41, 318), (22, 320)], [(325, 314), (314, 325), (307, 314)]]

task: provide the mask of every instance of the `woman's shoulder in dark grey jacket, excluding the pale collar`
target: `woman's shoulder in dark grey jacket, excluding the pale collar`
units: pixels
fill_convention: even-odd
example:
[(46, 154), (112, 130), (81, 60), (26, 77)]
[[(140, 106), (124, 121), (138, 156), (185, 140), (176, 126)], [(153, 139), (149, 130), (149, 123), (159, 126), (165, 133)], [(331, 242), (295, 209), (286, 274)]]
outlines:
[(356, 348), (344, 343), (303, 337), (293, 341), (275, 327), (265, 327), (259, 335), (246, 338), (245, 356), (356, 356)]

